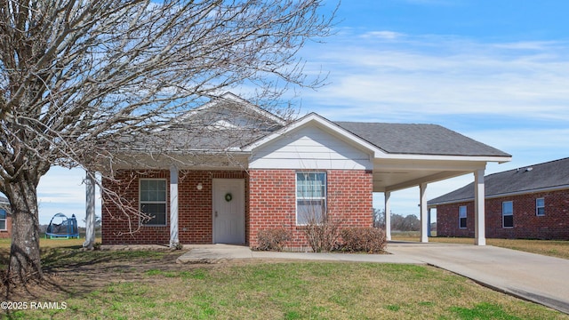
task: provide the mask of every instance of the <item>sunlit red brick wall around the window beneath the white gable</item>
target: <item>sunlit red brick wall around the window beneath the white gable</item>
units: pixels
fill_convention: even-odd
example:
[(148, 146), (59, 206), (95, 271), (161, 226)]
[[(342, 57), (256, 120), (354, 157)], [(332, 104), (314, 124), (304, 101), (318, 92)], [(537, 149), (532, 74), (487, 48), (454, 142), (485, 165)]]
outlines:
[[(257, 232), (287, 228), (293, 233), (290, 246), (307, 247), (301, 226), (296, 225), (295, 170), (251, 170), (249, 244), (257, 245)], [(344, 227), (373, 226), (373, 180), (367, 171), (326, 171), (328, 210)]]

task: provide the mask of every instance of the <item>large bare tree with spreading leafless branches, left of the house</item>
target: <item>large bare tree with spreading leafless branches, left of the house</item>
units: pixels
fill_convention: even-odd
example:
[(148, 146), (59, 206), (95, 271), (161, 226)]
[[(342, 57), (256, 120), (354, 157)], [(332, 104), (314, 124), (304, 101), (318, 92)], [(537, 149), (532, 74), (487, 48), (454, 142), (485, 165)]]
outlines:
[[(322, 0), (0, 1), (0, 191), (9, 275), (41, 279), (36, 188), (52, 165), (103, 172), (125, 136), (242, 87), (316, 87), (297, 52), (328, 36)], [(198, 124), (196, 124), (198, 125)], [(120, 139), (118, 137), (121, 137)], [(113, 142), (111, 145), (110, 142)]]

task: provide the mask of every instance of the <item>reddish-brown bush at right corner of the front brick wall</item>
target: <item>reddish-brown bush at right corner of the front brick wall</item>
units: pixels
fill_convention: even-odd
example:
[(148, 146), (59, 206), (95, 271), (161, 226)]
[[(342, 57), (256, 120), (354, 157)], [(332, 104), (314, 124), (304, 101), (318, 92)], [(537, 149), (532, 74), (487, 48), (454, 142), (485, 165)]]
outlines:
[(387, 245), (381, 228), (342, 228), (342, 249), (348, 252), (382, 252)]

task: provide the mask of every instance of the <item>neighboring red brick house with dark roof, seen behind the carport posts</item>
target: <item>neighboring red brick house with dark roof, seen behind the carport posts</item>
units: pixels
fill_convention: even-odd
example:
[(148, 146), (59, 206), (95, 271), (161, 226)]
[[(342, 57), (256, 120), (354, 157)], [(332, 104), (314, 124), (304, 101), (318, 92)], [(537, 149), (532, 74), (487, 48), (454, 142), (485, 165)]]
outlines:
[[(490, 174), (485, 187), (487, 237), (569, 240), (569, 158)], [(428, 202), (437, 236), (474, 236), (471, 189)]]

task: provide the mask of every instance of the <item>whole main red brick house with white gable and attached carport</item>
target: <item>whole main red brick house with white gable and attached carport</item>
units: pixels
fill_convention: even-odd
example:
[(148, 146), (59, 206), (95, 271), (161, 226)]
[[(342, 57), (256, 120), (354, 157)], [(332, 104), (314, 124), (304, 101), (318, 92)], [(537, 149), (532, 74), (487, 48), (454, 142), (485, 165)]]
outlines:
[[(198, 132), (188, 125), (197, 120)], [(287, 228), (289, 246), (305, 247), (310, 215), (372, 227), (373, 192), (389, 199), (421, 185), (426, 212), (430, 181), (481, 177), (487, 162), (510, 160), (438, 125), (332, 122), (314, 113), (287, 122), (231, 93), (132, 139), (116, 155), (114, 179), (102, 181), (120, 195), (103, 196), (103, 244), (254, 247), (259, 230)], [(151, 219), (140, 220), (139, 210)]]

